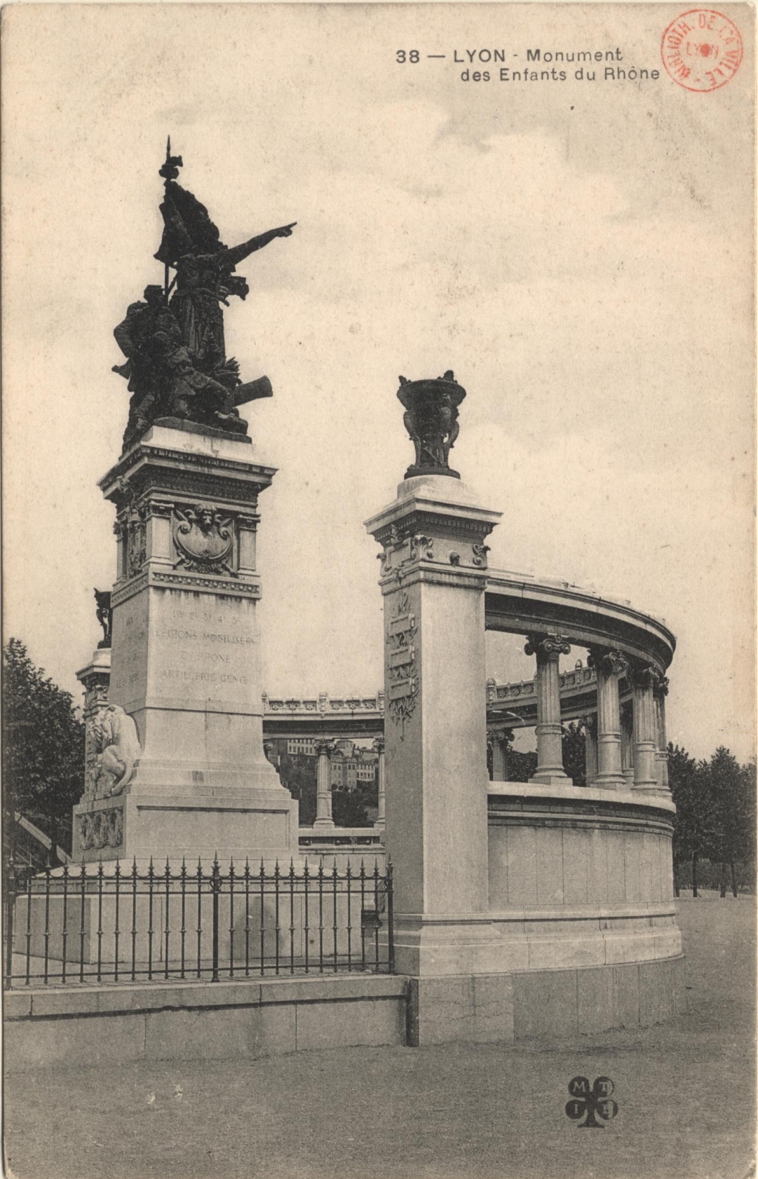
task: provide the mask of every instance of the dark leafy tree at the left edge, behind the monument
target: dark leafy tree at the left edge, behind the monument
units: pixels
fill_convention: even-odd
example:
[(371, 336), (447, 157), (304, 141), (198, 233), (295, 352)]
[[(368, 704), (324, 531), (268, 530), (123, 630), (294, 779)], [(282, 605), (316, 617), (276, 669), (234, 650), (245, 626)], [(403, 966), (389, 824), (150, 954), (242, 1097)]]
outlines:
[(2, 652), (2, 808), (6, 830), (13, 815), (58, 824), (84, 790), (84, 723), (73, 698), (45, 670), (35, 667), (25, 645), (9, 639)]

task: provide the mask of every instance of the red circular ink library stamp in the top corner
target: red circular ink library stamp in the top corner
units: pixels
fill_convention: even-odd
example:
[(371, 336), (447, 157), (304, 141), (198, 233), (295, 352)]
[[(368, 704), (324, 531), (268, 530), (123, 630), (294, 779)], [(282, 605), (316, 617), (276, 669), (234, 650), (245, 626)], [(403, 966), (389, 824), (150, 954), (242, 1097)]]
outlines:
[(691, 8), (672, 20), (660, 55), (675, 83), (700, 93), (731, 81), (743, 60), (743, 39), (729, 17), (713, 8)]

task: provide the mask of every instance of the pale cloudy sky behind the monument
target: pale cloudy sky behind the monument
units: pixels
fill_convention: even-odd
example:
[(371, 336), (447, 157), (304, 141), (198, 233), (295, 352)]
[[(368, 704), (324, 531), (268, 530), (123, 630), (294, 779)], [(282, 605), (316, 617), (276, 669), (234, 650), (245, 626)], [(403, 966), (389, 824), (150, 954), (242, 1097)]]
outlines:
[[(112, 329), (162, 279), (170, 132), (228, 243), (298, 223), (239, 268), (251, 292), (226, 312), (243, 375), (275, 389), (249, 407), (279, 468), (261, 501), (270, 694), (380, 685), (362, 521), (413, 455), (397, 375), (451, 368), (454, 465), (503, 512), (490, 564), (665, 617), (670, 737), (750, 756), (752, 12), (724, 11), (745, 60), (703, 94), (602, 66), (466, 83), (454, 61), (618, 46), (660, 70), (672, 5), (6, 7), (6, 638), (79, 698), (92, 587), (114, 575), (95, 486), (128, 400)], [(492, 637), (488, 672), (532, 666)]]

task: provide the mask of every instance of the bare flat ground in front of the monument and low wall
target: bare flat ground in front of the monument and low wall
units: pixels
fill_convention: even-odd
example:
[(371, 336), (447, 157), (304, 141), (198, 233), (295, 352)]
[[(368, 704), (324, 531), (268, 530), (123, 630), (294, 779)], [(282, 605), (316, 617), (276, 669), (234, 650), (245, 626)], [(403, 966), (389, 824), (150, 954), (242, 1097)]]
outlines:
[[(246, 1065), (19, 1074), (18, 1179), (743, 1179), (754, 1122), (754, 901), (683, 898), (691, 1012), (581, 1045), (355, 1048)], [(615, 1082), (602, 1131), (575, 1074)]]

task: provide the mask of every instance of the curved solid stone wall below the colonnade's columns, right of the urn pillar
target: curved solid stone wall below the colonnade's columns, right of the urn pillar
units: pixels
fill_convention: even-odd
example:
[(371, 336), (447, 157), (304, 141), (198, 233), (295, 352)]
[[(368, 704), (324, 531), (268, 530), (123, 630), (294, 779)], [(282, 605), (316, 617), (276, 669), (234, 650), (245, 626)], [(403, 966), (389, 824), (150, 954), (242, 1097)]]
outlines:
[(673, 814), (632, 791), (489, 784), (489, 918), (514, 971), (516, 1038), (685, 1009)]

